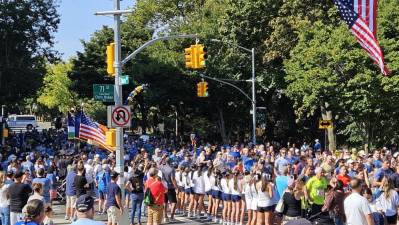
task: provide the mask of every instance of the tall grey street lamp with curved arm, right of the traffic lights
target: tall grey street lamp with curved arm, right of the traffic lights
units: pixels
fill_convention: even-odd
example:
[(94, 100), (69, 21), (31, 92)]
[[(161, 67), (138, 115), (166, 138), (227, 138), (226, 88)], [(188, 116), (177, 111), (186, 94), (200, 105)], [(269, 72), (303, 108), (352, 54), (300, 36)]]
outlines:
[(218, 39), (211, 39), (212, 42), (219, 42), (219, 43), (226, 43), (231, 46), (237, 47), (241, 50), (244, 50), (246, 52), (251, 53), (251, 60), (252, 60), (252, 79), (248, 80), (249, 82), (252, 83), (252, 143), (256, 145), (256, 95), (255, 95), (255, 48), (249, 49), (242, 47), (240, 45), (237, 45), (232, 42), (228, 41), (222, 41)]

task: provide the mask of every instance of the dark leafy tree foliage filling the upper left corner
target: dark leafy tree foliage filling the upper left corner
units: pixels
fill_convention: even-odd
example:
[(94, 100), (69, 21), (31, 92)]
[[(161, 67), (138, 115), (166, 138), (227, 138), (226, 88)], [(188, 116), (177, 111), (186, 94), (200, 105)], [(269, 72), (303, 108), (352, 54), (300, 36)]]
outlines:
[(58, 28), (57, 1), (0, 3), (0, 101), (15, 104), (32, 96), (54, 60), (52, 36)]

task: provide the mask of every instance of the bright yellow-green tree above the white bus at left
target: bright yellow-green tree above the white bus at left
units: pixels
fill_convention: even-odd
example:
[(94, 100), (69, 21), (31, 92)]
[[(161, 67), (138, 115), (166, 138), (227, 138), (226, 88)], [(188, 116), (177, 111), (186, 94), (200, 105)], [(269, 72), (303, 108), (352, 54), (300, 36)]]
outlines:
[(37, 101), (49, 109), (58, 109), (67, 112), (76, 99), (76, 94), (71, 91), (72, 82), (68, 78), (71, 71), (70, 63), (58, 63), (47, 66), (47, 73), (43, 80), (43, 87), (38, 92)]

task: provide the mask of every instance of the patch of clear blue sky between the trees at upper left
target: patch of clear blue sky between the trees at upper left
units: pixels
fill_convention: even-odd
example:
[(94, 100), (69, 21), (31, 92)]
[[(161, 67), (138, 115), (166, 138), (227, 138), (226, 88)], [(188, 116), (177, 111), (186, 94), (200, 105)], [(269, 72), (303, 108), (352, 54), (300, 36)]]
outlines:
[[(113, 9), (113, 0), (60, 0), (58, 12), (61, 22), (54, 34), (54, 49), (63, 54), (63, 59), (82, 50), (80, 40), (89, 40), (90, 35), (103, 25), (112, 26), (112, 16), (95, 16), (95, 12)], [(121, 1), (121, 9), (134, 5), (134, 0)]]

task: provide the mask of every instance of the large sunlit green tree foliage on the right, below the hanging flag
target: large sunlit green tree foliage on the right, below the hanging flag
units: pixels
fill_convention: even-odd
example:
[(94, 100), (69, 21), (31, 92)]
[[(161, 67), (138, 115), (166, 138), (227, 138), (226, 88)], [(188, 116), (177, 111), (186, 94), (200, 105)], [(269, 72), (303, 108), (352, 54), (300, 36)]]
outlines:
[[(397, 28), (389, 21), (398, 21), (399, 14), (392, 7), (399, 7), (399, 3), (385, 1), (380, 5), (379, 21), (387, 26), (380, 29), (379, 40), (388, 52), (388, 67), (396, 74), (398, 57), (392, 50), (397, 49), (399, 40), (391, 36)], [(294, 101), (297, 116), (317, 115), (328, 103), (338, 134), (345, 140), (369, 146), (394, 141), (397, 131), (386, 125), (396, 124), (397, 76), (383, 77), (346, 25), (337, 27), (332, 21), (310, 25), (300, 23), (297, 44), (284, 62), (285, 93)]]

